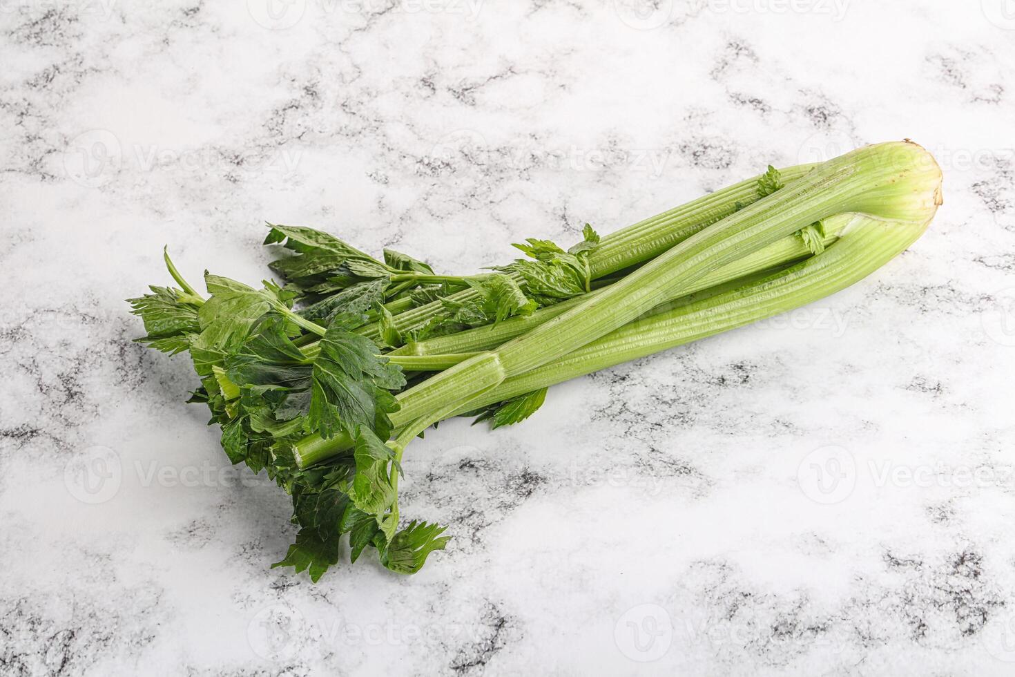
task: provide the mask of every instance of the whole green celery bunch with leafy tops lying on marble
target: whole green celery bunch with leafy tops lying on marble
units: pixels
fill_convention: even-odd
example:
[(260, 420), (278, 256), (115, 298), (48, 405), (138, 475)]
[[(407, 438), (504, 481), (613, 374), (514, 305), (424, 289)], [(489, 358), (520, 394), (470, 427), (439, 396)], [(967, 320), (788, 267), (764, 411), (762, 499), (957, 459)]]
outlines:
[[(276, 565), (314, 581), (347, 548), (413, 573), (444, 528), (402, 524), (401, 460), (456, 415), (529, 417), (569, 379), (771, 317), (849, 286), (911, 245), (941, 204), (934, 158), (909, 141), (764, 175), (569, 250), (542, 240), (483, 275), (383, 260), (271, 225), (285, 282), (206, 274), (165, 257), (176, 287), (131, 299), (147, 336), (187, 351), (233, 463), (292, 497), (296, 542)], [(344, 540), (348, 536), (347, 545)]]

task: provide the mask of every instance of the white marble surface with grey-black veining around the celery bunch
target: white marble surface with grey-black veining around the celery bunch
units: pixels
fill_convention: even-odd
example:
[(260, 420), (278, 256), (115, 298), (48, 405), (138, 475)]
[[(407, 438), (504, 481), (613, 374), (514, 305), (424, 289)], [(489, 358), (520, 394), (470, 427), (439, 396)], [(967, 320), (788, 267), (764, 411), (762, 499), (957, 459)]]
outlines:
[[(1015, 671), (1010, 0), (0, 2), (0, 674)], [(415, 446), (418, 576), (268, 565), (123, 298), (262, 222), (443, 270), (910, 137), (928, 233), (854, 288)]]

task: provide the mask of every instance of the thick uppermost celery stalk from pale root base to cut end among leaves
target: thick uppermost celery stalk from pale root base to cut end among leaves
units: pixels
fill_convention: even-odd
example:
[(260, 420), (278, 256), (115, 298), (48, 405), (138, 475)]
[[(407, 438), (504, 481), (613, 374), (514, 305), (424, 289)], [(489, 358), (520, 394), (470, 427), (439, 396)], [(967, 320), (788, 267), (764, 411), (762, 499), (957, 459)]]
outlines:
[[(498, 347), (471, 357), (398, 396), (396, 427), (472, 400), (481, 391), (589, 344), (654, 307), (681, 295), (709, 271), (728, 265), (829, 216), (862, 212), (926, 223), (940, 204), (933, 157), (904, 141), (867, 146), (824, 162), (783, 190), (700, 230), (616, 284)], [(816, 258), (821, 258), (816, 257)], [(849, 262), (847, 262), (848, 264)], [(814, 291), (811, 298), (823, 295)], [(307, 465), (343, 451), (344, 441), (311, 435), (296, 443)]]

